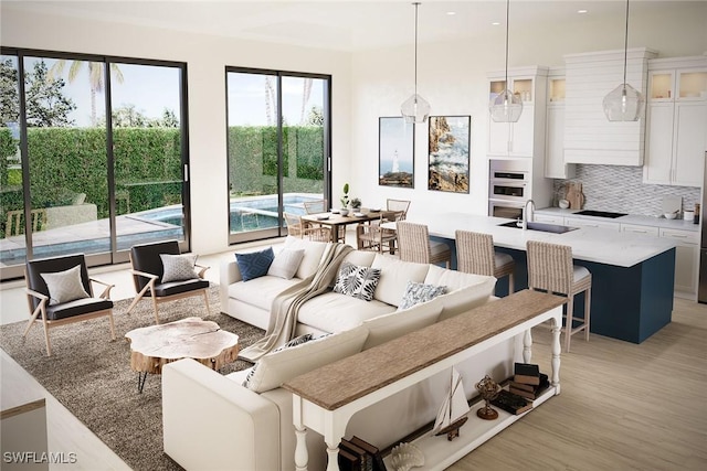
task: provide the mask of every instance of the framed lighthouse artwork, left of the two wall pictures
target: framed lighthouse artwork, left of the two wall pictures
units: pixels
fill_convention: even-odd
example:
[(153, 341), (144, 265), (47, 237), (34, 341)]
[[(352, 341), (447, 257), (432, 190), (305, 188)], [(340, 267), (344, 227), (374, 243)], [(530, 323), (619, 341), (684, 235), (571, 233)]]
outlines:
[(378, 118), (378, 184), (414, 188), (415, 126), (402, 116)]

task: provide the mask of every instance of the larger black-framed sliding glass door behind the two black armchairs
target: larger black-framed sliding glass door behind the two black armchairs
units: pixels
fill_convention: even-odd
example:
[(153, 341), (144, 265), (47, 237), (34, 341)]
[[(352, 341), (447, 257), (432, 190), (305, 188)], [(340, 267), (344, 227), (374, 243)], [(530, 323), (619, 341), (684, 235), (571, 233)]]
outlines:
[(2, 51), (0, 265), (188, 248), (183, 64)]

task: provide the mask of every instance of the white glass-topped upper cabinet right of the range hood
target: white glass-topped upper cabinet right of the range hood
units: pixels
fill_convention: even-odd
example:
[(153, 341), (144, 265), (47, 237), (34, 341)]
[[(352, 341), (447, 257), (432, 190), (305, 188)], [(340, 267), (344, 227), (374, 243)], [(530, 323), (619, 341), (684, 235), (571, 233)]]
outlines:
[(707, 57), (648, 63), (643, 182), (700, 186), (707, 149)]

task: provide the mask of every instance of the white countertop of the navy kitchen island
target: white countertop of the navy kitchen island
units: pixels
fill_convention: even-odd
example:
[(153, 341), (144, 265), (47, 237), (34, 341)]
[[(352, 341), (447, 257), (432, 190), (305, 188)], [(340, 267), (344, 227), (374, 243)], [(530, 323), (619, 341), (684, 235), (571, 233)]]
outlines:
[[(454, 239), (456, 229), (474, 231), (490, 234), (494, 237), (494, 245), (497, 247), (524, 251), (527, 240), (569, 245), (572, 247), (573, 258), (578, 260), (619, 267), (633, 267), (675, 247), (675, 243), (668, 238), (620, 233), (598, 227), (580, 227), (563, 234), (503, 227), (499, 224), (513, 220), (465, 213), (411, 214), (408, 221), (426, 224), (431, 236)], [(394, 223), (386, 223), (386, 225), (394, 227)]]

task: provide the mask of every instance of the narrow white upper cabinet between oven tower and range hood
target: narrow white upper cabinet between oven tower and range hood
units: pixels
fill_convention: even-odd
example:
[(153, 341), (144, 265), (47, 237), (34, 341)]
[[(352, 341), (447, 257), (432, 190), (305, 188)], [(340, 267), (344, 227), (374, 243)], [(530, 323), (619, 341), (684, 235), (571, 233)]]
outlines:
[(550, 68), (545, 135), (545, 176), (573, 179), (574, 164), (564, 162), (564, 68)]

